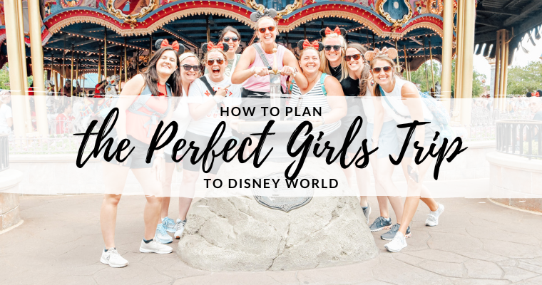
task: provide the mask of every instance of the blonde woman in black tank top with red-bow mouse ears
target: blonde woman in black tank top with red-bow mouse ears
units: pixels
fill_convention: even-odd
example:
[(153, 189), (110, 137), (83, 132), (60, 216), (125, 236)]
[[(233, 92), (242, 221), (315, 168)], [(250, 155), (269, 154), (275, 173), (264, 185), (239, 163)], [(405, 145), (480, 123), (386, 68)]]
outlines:
[[(342, 138), (346, 138), (347, 132), (352, 125), (352, 122), (357, 116), (363, 119), (362, 128), (357, 133), (355, 140), (349, 145), (348, 153), (350, 157), (354, 157), (355, 153), (362, 147), (363, 140), (367, 137), (367, 123), (365, 123), (365, 113), (359, 100), (359, 79), (349, 76), (347, 62), (343, 56), (345, 54), (347, 43), (343, 35), (346, 33), (344, 29), (335, 28), (332, 31), (329, 28), (322, 29), (320, 34), (324, 37), (322, 43), (324, 50), (322, 51), (321, 64), (324, 73), (331, 74), (341, 83), (342, 91), (347, 99), (347, 115), (341, 120), (341, 128), (339, 129)], [(354, 167), (356, 168), (356, 167)], [(357, 187), (360, 195), (360, 204), (362, 206), (367, 223), (369, 223), (369, 214), (371, 207), (367, 204), (367, 191), (371, 181), (370, 172), (367, 168), (349, 167), (344, 170), (344, 175), (347, 176), (349, 185), (354, 185), (354, 175), (357, 179)]]

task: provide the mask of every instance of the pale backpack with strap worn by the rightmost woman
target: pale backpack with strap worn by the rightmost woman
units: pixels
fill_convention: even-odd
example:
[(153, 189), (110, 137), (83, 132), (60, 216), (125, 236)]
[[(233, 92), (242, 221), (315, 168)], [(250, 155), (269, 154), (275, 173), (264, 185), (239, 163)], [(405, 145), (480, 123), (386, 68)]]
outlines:
[[(399, 115), (403, 118), (410, 118), (410, 116), (399, 114), (399, 112), (395, 110), (392, 103), (389, 103), (389, 100), (386, 97), (386, 94), (384, 93), (382, 86), (379, 86), (379, 88), (380, 88), (380, 94), (382, 95), (382, 98), (384, 98), (384, 101), (386, 101), (386, 103), (389, 105), (390, 108), (392, 108), (392, 110), (394, 111), (396, 115)], [(437, 123), (437, 125), (439, 125), (440, 127), (440, 132), (439, 132), (440, 142), (443, 143), (444, 138), (447, 138), (449, 142), (451, 140), (454, 140), (454, 138), (456, 138), (456, 133), (449, 126), (451, 119), (450, 119), (450, 115), (446, 111), (446, 108), (444, 108), (444, 106), (439, 102), (439, 100), (436, 100), (431, 95), (429, 95), (429, 93), (421, 92), (420, 98), (421, 98), (421, 102), (426, 105), (427, 109), (429, 109), (429, 112), (433, 114), (433, 118), (436, 120), (435, 123)]]

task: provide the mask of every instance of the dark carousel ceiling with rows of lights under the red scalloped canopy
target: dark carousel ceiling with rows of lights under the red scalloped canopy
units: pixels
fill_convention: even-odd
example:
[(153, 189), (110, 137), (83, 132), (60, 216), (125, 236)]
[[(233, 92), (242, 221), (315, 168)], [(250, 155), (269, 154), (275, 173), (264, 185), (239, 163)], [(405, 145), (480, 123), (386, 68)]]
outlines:
[[(240, 32), (241, 50), (251, 41), (255, 41), (252, 38), (254, 36), (252, 27), (235, 19), (217, 15), (186, 16), (161, 26), (150, 35), (137, 36), (121, 36), (115, 31), (98, 24), (76, 23), (64, 26), (51, 36), (51, 39), (44, 46), (44, 64), (46, 68), (49, 68), (51, 59), (53, 59), (54, 69), (61, 69), (54, 66), (62, 66), (63, 63), (66, 68), (71, 68), (71, 48), (73, 45), (74, 62), (77, 62), (79, 58), (80, 69), (96, 69), (98, 66), (98, 53), (103, 58), (106, 34), (108, 70), (118, 66), (121, 56), (124, 55), (125, 46), (128, 57), (133, 56), (136, 52), (140, 56), (147, 55), (151, 46), (151, 38), (153, 41), (158, 38), (167, 38), (170, 42), (179, 41), (186, 48), (190, 48), (191, 51), (200, 53), (200, 46), (207, 41), (208, 25), (210, 39), (215, 43), (218, 41), (220, 31), (225, 26), (234, 26)], [(302, 39), (319, 40), (321, 39), (319, 31), (322, 26), (345, 28), (347, 30), (347, 41), (363, 43), (368, 48), (396, 47), (395, 39), (378, 36), (370, 28), (355, 21), (334, 17), (309, 21), (292, 31), (282, 32), (277, 36), (277, 42), (289, 48), (295, 48), (297, 41)], [(431, 53), (429, 52), (430, 44)], [(429, 28), (417, 28), (406, 33), (404, 37), (397, 39), (399, 61), (404, 62), (404, 53), (406, 51), (411, 68), (414, 70), (424, 62), (424, 58), (428, 60), (431, 54), (434, 59), (440, 60), (441, 46), (441, 37), (437, 33)], [(63, 58), (64, 54), (66, 54), (66, 58)]]

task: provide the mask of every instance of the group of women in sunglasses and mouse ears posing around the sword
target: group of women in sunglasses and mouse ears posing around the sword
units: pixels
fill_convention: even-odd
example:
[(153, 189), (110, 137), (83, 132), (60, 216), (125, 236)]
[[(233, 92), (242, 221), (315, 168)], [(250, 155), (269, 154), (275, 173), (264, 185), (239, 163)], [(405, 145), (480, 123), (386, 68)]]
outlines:
[[(419, 93), (413, 83), (402, 80), (397, 73), (393, 61), (397, 51), (384, 49), (367, 52), (359, 43), (347, 44), (344, 30), (326, 28), (322, 31), (324, 38), (321, 43), (302, 41), (298, 44), (298, 61), (290, 50), (275, 43), (278, 31), (272, 17), (260, 14), (255, 20), (256, 35), (260, 41), (245, 48), (242, 55), (236, 53), (240, 34), (232, 27), (223, 30), (218, 44), (208, 43), (203, 46), (203, 76), (198, 56), (190, 52), (179, 52), (176, 42), (170, 45), (162, 41), (143, 73), (126, 83), (115, 105), (119, 110), (116, 128), (109, 136), (113, 138), (113, 146), (118, 145), (122, 149), (117, 157), (126, 157), (128, 153), (130, 156), (123, 162), (114, 159), (103, 162), (106, 195), (101, 208), (101, 229), (106, 247), (101, 262), (104, 264), (113, 267), (128, 264), (116, 250), (115, 226), (118, 202), (129, 170), (140, 182), (147, 199), (143, 214), (145, 232), (140, 252), (173, 252), (165, 244), (173, 242), (173, 237), (180, 238), (183, 233), (202, 161), (193, 164), (187, 159), (183, 160), (183, 179), (180, 185), (183, 194), (179, 199), (178, 217), (171, 219), (168, 217), (171, 183), (175, 161), (180, 159), (179, 156), (172, 157), (173, 143), (155, 151), (150, 164), (145, 163), (146, 152), (158, 122), (161, 120), (164, 125), (168, 125), (171, 120), (175, 120), (178, 123), (173, 142), (184, 138), (187, 142), (201, 146), (207, 145), (215, 128), (225, 122), (223, 136), (215, 145), (217, 149), (222, 149), (229, 138), (238, 135), (235, 129), (239, 120), (223, 116), (220, 107), (231, 108), (241, 105), (241, 98), (257, 98), (270, 93), (269, 67), (273, 66), (275, 58), (275, 66), (281, 74), (282, 89), (285, 93), (291, 93), (290, 105), (322, 108), (321, 117), (302, 118), (321, 123), (313, 132), (322, 131), (326, 136), (333, 134), (334, 137), (342, 138), (354, 118), (362, 117), (362, 130), (348, 152), (352, 155), (357, 152), (366, 138), (369, 140), (369, 149), (378, 147), (370, 162), (379, 195), (380, 217), (374, 220), (370, 229), (372, 232), (389, 229), (389, 232), (382, 234), (382, 239), (391, 240), (385, 247), (390, 252), (399, 252), (406, 247), (405, 238), (410, 236), (409, 223), (416, 212), (420, 196), (431, 210), (426, 225), (438, 224), (444, 206), (429, 198), (423, 184), (424, 175), (431, 165), (431, 157), (416, 165), (412, 160), (413, 142), (406, 148), (402, 160), (403, 172), (408, 181), (408, 195), (404, 204), (392, 182), (394, 165), (389, 155), (399, 155), (399, 148), (409, 135), (406, 130), (398, 129), (397, 124), (431, 120), (431, 113), (420, 100), (401, 100), (419, 98)], [(273, 56), (274, 49), (276, 57)], [(292, 81), (291, 89), (287, 88), (289, 80)], [(429, 145), (434, 130), (433, 124), (420, 125), (416, 128), (414, 138), (420, 145)], [(126, 138), (130, 141), (130, 147), (126, 146)], [(132, 146), (136, 148), (130, 152)], [(208, 178), (214, 178), (223, 162), (221, 157), (215, 157)], [(347, 168), (344, 172), (350, 185), (353, 186), (354, 180), (357, 180), (360, 206), (369, 222), (367, 191), (370, 173), (367, 168), (357, 167)], [(389, 217), (388, 201), (397, 217), (395, 224), (392, 224)], [(173, 237), (168, 232), (173, 233)]]

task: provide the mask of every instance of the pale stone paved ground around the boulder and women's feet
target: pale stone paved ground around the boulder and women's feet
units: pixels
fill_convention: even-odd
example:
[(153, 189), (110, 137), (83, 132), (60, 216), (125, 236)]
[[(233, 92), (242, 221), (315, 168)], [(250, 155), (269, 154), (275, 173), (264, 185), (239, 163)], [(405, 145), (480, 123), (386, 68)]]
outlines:
[[(116, 229), (118, 251), (130, 265), (113, 269), (101, 264), (101, 199), (21, 197), (24, 224), (0, 234), (0, 283), (542, 284), (542, 216), (487, 199), (440, 199), (446, 212), (434, 228), (424, 226), (429, 209), (421, 204), (409, 246), (400, 253), (386, 252), (379, 232), (374, 238), (380, 253), (370, 261), (304, 271), (223, 273), (193, 269), (175, 253), (140, 254), (144, 199), (130, 196), (121, 200)], [(372, 220), (377, 202), (369, 202)]]

